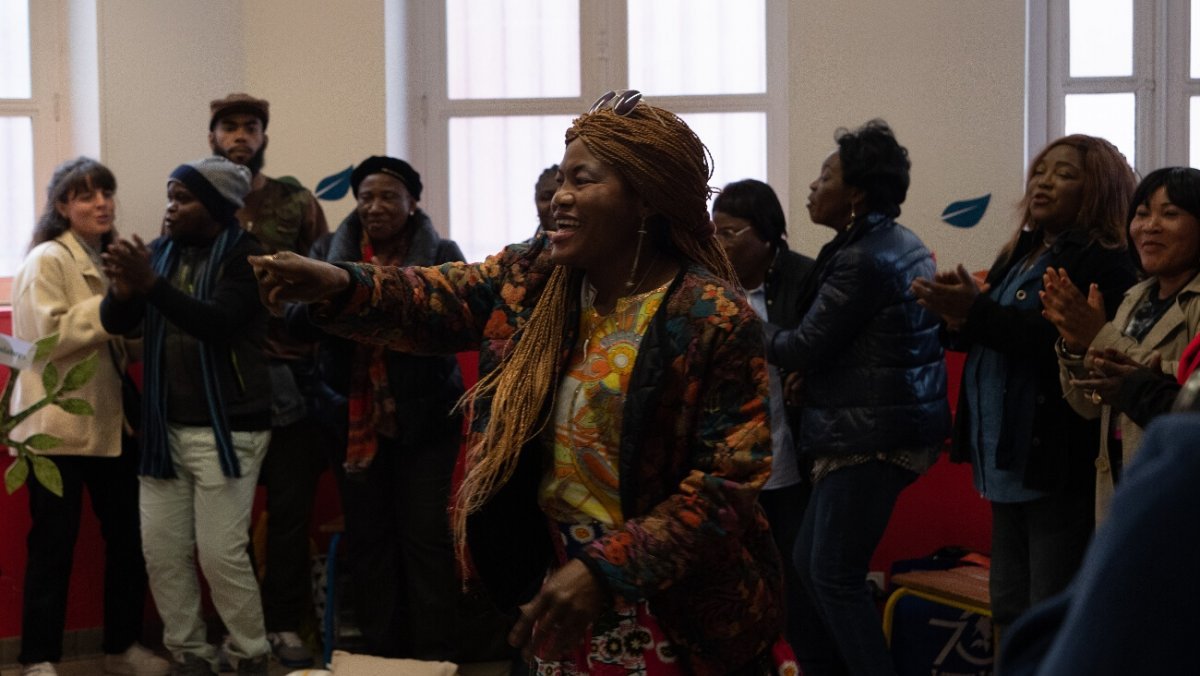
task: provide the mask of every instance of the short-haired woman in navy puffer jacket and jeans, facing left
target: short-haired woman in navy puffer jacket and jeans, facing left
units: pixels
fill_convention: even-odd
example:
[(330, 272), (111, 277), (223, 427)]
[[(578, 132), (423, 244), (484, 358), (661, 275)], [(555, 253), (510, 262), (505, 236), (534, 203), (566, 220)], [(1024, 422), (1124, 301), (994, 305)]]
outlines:
[(803, 378), (799, 449), (814, 459), (812, 496), (796, 567), (850, 672), (876, 676), (894, 668), (868, 567), (900, 491), (934, 463), (949, 407), (937, 318), (908, 293), (934, 259), (894, 220), (908, 152), (882, 120), (835, 138), (808, 207), (836, 235), (800, 289), (799, 325), (768, 325), (767, 357)]

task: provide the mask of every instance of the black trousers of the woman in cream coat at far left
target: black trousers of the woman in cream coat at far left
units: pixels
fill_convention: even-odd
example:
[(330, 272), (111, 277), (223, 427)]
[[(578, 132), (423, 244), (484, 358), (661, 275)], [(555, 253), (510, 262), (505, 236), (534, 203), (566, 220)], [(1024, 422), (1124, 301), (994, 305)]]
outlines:
[(120, 457), (54, 456), (62, 474), (62, 497), (49, 492), (30, 473), (28, 560), (22, 608), (22, 664), (62, 659), (67, 587), (79, 534), (83, 490), (104, 537), (103, 650), (116, 654), (142, 638), (146, 567), (142, 558), (138, 515), (137, 451)]

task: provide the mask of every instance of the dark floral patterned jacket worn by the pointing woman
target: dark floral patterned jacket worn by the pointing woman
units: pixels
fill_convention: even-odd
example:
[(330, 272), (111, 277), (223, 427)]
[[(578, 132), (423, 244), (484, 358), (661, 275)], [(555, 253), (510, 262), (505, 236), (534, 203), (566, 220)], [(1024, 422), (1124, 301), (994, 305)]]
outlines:
[[(350, 289), (313, 307), (326, 330), (414, 352), (478, 349), (481, 373), (521, 339), (553, 270), (544, 238), (479, 264), (342, 267)], [(577, 313), (571, 307), (557, 346), (564, 361)], [(642, 339), (626, 393), (626, 520), (589, 545), (583, 562), (610, 593), (647, 599), (696, 674), (745, 668), (782, 627), (780, 557), (756, 502), (770, 471), (767, 391), (754, 310), (708, 271), (683, 270)], [(476, 403), (473, 433), (490, 415), (490, 402)], [(504, 608), (532, 598), (552, 561), (536, 503), (544, 455), (528, 444), (515, 475), (468, 524), (475, 575)]]

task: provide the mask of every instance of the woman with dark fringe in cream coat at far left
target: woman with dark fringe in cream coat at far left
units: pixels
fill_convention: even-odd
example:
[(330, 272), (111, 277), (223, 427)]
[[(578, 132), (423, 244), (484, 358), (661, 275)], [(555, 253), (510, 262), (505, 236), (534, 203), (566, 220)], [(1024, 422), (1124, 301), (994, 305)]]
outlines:
[[(13, 279), (17, 337), (32, 342), (56, 333), (59, 342), (50, 361), (59, 373), (92, 353), (100, 358), (95, 377), (73, 393), (91, 403), (94, 415), (73, 415), (48, 406), (14, 431), (16, 438), (44, 432), (62, 441), (41, 451), (53, 456), (62, 475), (62, 497), (36, 480), (26, 483), (32, 525), (18, 656), (23, 675), (53, 676), (54, 663), (62, 657), (67, 586), (84, 486), (104, 536), (104, 671), (139, 676), (170, 671), (167, 660), (137, 642), (146, 572), (138, 525), (137, 445), (121, 443), (127, 424), (121, 405), (127, 346), (100, 323), (100, 301), (108, 288), (100, 252), (113, 239), (115, 191), (113, 173), (95, 160), (79, 157), (59, 166), (34, 231), (32, 249)], [(17, 379), (12, 409), (24, 411), (44, 394), (41, 373), (25, 370)]]

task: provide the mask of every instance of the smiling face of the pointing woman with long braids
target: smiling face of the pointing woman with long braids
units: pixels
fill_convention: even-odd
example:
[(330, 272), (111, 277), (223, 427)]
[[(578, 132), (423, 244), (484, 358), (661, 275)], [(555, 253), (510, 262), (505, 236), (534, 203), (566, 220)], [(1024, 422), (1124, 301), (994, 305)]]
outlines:
[(551, 259), (587, 270), (589, 276), (628, 276), (643, 216), (632, 187), (578, 139), (566, 146), (557, 178)]

